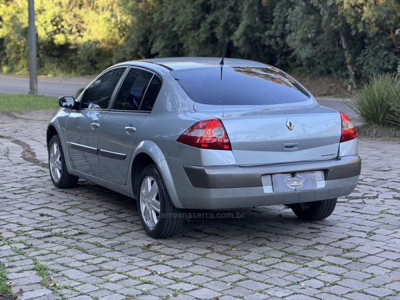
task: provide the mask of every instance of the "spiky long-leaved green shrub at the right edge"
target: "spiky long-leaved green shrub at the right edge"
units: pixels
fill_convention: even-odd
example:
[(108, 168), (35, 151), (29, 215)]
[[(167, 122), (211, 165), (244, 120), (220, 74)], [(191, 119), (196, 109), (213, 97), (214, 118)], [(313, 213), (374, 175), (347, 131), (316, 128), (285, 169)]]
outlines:
[(366, 125), (400, 126), (400, 77), (372, 75), (355, 93), (354, 110)]

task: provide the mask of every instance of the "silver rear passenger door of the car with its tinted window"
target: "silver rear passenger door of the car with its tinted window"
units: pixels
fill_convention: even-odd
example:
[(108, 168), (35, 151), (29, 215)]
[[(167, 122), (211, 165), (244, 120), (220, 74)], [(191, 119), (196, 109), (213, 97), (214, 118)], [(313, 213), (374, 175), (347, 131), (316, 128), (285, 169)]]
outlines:
[(127, 72), (98, 132), (101, 178), (126, 183), (136, 136), (149, 116), (160, 87), (161, 80), (153, 72), (136, 67)]

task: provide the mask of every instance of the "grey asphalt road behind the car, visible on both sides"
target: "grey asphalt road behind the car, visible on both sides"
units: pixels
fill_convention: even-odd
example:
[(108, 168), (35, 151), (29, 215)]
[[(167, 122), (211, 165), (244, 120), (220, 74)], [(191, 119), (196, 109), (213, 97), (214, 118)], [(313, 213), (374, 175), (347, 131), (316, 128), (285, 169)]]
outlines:
[[(38, 94), (47, 96), (75, 96), (76, 92), (85, 87), (92, 77), (38, 77)], [(29, 78), (23, 76), (10, 76), (0, 74), (0, 93), (27, 93), (29, 91)], [(349, 107), (351, 100), (323, 97), (317, 98), (319, 104), (343, 111), (355, 125), (359, 125), (357, 114)]]

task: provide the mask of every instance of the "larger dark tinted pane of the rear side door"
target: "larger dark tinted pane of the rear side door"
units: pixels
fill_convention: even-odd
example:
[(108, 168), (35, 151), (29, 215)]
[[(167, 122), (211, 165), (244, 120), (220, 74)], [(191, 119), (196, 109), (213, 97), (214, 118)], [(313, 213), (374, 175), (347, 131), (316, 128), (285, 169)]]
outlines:
[(123, 80), (113, 108), (139, 110), (140, 102), (152, 76), (152, 73), (145, 70), (131, 68)]

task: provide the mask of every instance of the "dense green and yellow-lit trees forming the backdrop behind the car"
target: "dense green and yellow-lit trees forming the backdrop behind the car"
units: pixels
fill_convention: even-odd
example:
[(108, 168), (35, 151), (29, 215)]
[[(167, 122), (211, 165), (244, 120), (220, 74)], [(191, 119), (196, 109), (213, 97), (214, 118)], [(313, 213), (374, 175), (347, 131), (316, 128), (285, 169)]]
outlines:
[[(35, 0), (38, 67), (226, 56), (355, 80), (400, 65), (398, 0)], [(27, 1), (0, 2), (0, 71), (27, 72)]]

